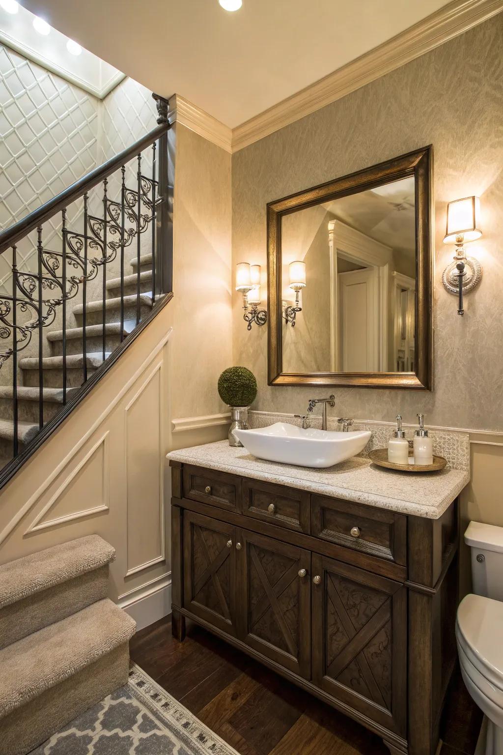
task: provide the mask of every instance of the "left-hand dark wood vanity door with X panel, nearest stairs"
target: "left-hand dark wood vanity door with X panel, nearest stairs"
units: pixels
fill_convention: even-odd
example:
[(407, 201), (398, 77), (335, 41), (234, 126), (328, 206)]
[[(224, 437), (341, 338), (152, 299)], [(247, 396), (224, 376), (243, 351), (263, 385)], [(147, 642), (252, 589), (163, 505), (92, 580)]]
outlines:
[(183, 606), (236, 635), (236, 530), (187, 511), (183, 518)]

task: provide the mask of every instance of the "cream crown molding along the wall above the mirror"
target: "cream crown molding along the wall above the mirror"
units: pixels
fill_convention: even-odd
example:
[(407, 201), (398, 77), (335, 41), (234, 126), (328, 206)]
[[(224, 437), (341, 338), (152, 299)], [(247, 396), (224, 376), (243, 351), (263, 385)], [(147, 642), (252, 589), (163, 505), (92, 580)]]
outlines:
[(409, 63), (503, 11), (503, 0), (455, 0), (379, 47), (232, 130), (232, 153)]

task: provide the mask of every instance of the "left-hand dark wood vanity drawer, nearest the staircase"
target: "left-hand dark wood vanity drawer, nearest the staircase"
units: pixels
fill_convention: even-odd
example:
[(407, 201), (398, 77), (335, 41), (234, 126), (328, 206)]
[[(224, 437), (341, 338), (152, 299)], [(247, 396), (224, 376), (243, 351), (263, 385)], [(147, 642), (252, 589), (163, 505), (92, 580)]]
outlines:
[(201, 504), (241, 513), (241, 478), (184, 464), (183, 496)]

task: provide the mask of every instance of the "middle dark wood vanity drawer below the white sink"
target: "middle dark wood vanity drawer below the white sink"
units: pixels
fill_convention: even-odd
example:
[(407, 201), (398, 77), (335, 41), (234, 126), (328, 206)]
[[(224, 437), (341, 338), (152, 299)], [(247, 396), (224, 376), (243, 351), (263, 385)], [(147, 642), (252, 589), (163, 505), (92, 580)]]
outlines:
[(309, 498), (308, 492), (296, 488), (253, 479), (243, 480), (245, 516), (304, 532), (305, 535), (310, 532)]

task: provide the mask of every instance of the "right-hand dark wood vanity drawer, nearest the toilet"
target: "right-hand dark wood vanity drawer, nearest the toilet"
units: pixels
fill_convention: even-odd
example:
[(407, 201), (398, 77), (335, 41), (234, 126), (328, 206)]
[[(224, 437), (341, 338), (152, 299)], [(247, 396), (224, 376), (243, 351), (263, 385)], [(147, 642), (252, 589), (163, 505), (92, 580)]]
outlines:
[(313, 495), (311, 532), (315, 538), (406, 564), (406, 516), (402, 514)]

